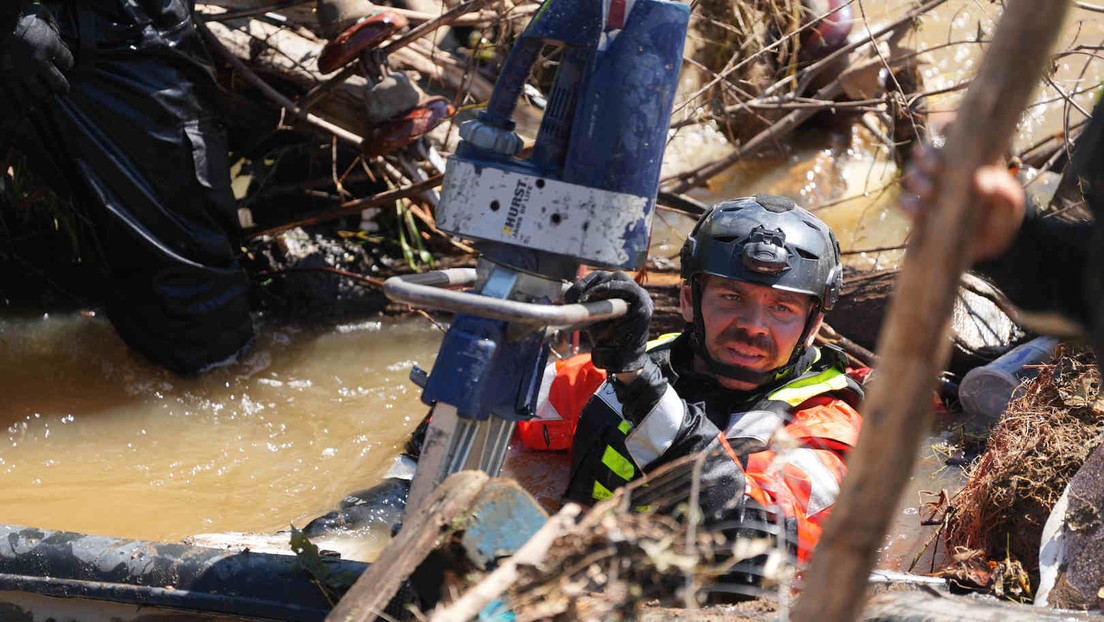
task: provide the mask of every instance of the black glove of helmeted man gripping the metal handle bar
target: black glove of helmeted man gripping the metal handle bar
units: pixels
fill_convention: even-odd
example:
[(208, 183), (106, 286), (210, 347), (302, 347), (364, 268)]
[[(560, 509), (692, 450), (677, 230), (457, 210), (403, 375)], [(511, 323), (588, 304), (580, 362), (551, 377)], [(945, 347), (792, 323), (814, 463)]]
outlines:
[(595, 367), (614, 373), (644, 367), (648, 355), (648, 325), (651, 323), (651, 296), (624, 272), (596, 271), (580, 278), (564, 294), (567, 303), (591, 303), (622, 298), (628, 313), (586, 327), (594, 344), (591, 360)]

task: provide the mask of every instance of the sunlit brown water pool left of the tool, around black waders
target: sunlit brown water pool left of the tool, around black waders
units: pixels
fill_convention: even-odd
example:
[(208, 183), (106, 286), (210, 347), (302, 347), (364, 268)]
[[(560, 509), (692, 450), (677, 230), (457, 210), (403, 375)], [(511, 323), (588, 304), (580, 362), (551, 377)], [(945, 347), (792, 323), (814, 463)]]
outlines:
[(425, 415), (422, 318), (262, 328), (198, 379), (102, 319), (0, 320), (0, 521), (147, 539), (274, 531), (379, 481)]

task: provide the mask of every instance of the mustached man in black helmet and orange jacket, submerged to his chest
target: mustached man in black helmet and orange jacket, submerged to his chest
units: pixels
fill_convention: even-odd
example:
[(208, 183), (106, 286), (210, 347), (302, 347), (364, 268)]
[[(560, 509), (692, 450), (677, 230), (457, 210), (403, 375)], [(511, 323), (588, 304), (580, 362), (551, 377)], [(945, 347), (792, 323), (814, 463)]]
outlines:
[[(705, 452), (705, 523), (781, 515), (805, 561), (861, 424), (842, 352), (813, 346), (842, 284), (835, 234), (794, 201), (757, 194), (707, 211), (681, 262), (687, 327), (650, 344), (650, 297), (624, 273), (594, 272), (569, 291), (569, 302), (617, 297), (629, 312), (588, 330), (590, 355), (555, 363), (541, 421), (522, 423), (521, 439), (570, 444), (566, 496), (590, 503)], [(795, 442), (774, 446), (783, 435)]]

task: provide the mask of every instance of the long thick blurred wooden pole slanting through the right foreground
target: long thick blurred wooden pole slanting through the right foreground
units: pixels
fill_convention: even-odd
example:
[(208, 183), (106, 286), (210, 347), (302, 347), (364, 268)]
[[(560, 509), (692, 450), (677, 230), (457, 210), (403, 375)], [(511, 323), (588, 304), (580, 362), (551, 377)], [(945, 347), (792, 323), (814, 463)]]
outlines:
[(881, 365), (839, 502), (808, 571), (793, 620), (853, 620), (896, 499), (928, 429), (931, 391), (946, 361), (951, 310), (969, 264), (974, 171), (1007, 147), (1042, 75), (1069, 2), (1006, 3), (957, 120), (936, 199), (914, 230), (882, 328)]

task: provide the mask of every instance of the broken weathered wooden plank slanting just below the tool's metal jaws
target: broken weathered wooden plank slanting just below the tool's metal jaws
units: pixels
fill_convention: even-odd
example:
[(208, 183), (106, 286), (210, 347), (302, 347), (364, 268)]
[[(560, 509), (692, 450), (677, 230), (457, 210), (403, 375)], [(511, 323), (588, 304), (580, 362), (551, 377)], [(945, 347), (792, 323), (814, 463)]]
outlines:
[(326, 622), (375, 620), (403, 581), (437, 547), (453, 520), (471, 506), (488, 479), (480, 471), (461, 471), (442, 482), (421, 512), (407, 514), (402, 531), (360, 576)]

